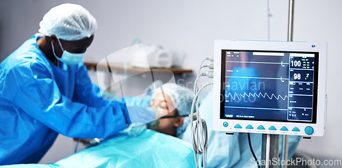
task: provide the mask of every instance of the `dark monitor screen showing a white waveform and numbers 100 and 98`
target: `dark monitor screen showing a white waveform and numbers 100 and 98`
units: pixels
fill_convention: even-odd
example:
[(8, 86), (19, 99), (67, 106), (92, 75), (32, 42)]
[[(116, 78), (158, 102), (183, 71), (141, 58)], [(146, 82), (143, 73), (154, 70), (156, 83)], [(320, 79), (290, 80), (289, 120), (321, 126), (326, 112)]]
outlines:
[(316, 123), (318, 61), (318, 52), (222, 49), (220, 118)]

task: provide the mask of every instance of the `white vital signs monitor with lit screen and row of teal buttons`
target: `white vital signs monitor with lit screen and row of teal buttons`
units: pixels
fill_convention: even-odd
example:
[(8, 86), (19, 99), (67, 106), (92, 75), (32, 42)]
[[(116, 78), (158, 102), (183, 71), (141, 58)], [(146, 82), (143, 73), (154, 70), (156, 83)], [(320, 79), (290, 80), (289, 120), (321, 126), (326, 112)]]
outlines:
[(323, 136), (326, 44), (216, 40), (213, 130)]

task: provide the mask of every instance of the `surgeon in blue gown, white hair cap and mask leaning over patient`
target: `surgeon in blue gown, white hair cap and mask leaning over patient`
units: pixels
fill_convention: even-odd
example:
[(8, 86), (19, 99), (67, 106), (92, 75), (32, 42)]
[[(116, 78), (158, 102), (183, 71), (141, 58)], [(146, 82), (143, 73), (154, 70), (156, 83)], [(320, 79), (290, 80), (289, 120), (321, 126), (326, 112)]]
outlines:
[(82, 58), (95, 18), (81, 5), (52, 8), (32, 36), (0, 64), (0, 165), (38, 163), (58, 134), (105, 138), (155, 115), (101, 98)]

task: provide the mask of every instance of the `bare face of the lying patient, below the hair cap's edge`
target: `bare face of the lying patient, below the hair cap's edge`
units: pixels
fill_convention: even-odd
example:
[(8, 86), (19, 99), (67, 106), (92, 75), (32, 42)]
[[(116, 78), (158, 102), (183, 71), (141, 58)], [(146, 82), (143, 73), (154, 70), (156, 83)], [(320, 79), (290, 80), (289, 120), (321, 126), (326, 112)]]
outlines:
[[(171, 101), (170, 96), (168, 94), (159, 93), (150, 101), (150, 106), (159, 107), (159, 115), (163, 116), (173, 116), (178, 112), (176, 111), (176, 107)], [(167, 135), (176, 135), (176, 128), (178, 126), (183, 125), (183, 118), (180, 116), (171, 117), (171, 118), (162, 118), (160, 119), (159, 126), (155, 130)]]

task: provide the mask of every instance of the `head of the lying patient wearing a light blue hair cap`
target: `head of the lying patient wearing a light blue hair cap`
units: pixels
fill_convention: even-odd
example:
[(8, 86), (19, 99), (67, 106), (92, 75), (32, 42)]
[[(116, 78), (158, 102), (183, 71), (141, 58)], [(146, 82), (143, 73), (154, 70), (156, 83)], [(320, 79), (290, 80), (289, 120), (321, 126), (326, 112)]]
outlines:
[(189, 115), (192, 106), (193, 94), (190, 89), (166, 83), (153, 92), (151, 107), (156, 107), (160, 120), (157, 128), (152, 128), (158, 132), (179, 137), (183, 134), (185, 116)]

